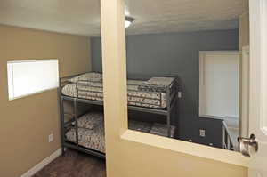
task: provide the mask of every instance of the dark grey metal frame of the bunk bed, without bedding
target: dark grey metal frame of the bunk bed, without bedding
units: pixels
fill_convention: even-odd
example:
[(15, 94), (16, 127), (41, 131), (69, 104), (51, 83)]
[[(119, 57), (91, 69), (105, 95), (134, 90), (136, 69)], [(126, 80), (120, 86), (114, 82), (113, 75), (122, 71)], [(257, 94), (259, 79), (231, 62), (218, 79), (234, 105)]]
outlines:
[[(79, 74), (81, 75), (81, 74)], [(80, 98), (79, 97), (79, 87), (78, 84), (80, 82), (85, 82), (85, 81), (78, 81), (76, 83), (76, 95), (77, 97), (71, 97), (64, 95), (62, 93), (62, 88), (64, 85), (69, 84), (69, 79), (73, 78), (75, 76), (79, 75), (74, 75), (74, 76), (65, 76), (60, 78), (60, 87), (59, 87), (59, 100), (60, 100), (60, 110), (61, 110), (61, 146), (62, 146), (62, 154), (65, 152), (65, 148), (70, 148), (70, 149), (77, 149), (79, 151), (85, 152), (87, 154), (96, 156), (96, 157), (101, 157), (105, 158), (105, 154), (101, 153), (97, 150), (94, 149), (88, 149), (83, 146), (79, 145), (79, 140), (78, 140), (78, 127), (77, 127), (77, 120), (78, 120), (78, 114), (77, 114), (77, 103), (78, 102), (83, 102), (91, 105), (100, 105), (103, 106), (103, 101), (95, 101), (95, 100), (89, 100), (85, 98)], [(85, 91), (84, 91), (85, 92)], [(89, 92), (89, 91), (87, 91)], [(142, 91), (145, 92), (145, 91)], [(158, 93), (158, 92), (157, 92)], [(143, 98), (143, 97), (141, 97)], [(161, 100), (160, 96), (160, 100)], [(157, 100), (157, 99), (155, 99)], [(73, 113), (68, 113), (65, 112), (64, 109), (64, 101), (72, 101), (73, 102)], [(161, 101), (160, 101), (161, 102)], [(167, 125), (167, 135), (170, 137), (171, 135), (171, 120), (172, 117), (177, 117), (178, 116), (178, 85), (177, 85), (177, 79), (174, 79), (174, 82), (170, 84), (169, 86), (166, 87), (166, 109), (155, 109), (155, 108), (146, 108), (146, 107), (141, 107), (141, 106), (132, 106), (128, 105), (129, 110), (134, 110), (134, 111), (141, 111), (141, 112), (146, 112), (146, 113), (151, 113), (151, 114), (158, 114), (158, 115), (163, 115), (166, 116), (166, 125)], [(68, 122), (65, 122), (65, 116), (71, 117)], [(72, 122), (75, 122), (75, 129), (76, 129), (76, 142), (69, 142), (65, 138), (65, 134), (67, 133), (66, 125), (67, 127), (71, 125)]]

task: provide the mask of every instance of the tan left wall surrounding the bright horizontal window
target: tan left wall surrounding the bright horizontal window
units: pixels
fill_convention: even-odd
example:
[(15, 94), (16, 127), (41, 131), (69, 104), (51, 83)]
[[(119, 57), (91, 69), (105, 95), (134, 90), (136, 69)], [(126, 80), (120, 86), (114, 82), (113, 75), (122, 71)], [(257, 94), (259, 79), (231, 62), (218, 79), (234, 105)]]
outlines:
[(86, 36), (0, 25), (1, 177), (20, 176), (61, 148), (57, 90), (8, 101), (6, 61), (56, 58), (69, 76), (91, 69), (89, 45)]

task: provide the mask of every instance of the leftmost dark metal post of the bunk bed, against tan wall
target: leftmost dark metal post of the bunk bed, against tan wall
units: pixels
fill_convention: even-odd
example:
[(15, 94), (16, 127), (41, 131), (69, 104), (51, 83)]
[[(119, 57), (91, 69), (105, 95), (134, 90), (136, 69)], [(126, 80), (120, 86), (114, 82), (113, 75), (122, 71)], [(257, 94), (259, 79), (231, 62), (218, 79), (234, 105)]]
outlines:
[(65, 155), (65, 147), (64, 147), (64, 141), (65, 141), (65, 119), (64, 119), (64, 102), (63, 97), (61, 96), (61, 78), (60, 78), (60, 86), (58, 90), (59, 94), (59, 102), (60, 102), (60, 114), (61, 114), (61, 153), (62, 156)]

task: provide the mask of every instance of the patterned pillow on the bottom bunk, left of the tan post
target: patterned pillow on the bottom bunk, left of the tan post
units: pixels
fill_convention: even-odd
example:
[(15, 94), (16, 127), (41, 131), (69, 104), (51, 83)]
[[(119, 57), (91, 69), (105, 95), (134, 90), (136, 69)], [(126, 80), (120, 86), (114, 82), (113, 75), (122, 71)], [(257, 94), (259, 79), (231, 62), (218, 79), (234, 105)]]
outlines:
[(91, 112), (78, 118), (77, 126), (79, 128), (85, 128), (93, 130), (97, 125), (100, 125), (104, 120), (104, 116), (99, 112)]

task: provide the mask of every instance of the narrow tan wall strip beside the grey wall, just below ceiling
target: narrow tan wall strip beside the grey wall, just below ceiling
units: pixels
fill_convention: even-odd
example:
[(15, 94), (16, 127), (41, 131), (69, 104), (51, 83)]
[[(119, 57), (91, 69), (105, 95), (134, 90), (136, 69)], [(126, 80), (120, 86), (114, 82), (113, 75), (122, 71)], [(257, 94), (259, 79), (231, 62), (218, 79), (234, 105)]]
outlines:
[(249, 13), (244, 12), (239, 17), (239, 48), (249, 45)]

